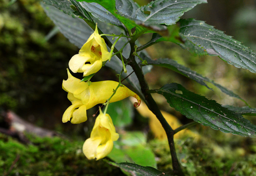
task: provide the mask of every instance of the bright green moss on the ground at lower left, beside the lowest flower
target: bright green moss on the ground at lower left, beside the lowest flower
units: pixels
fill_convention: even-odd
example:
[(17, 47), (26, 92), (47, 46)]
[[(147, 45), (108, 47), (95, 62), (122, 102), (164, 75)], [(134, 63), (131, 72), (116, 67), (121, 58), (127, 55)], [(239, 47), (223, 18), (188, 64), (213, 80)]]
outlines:
[(9, 175), (123, 175), (120, 169), (103, 160), (87, 160), (81, 148), (82, 140), (69, 141), (60, 137), (39, 138), (28, 136), (24, 145), (0, 133), (0, 172)]

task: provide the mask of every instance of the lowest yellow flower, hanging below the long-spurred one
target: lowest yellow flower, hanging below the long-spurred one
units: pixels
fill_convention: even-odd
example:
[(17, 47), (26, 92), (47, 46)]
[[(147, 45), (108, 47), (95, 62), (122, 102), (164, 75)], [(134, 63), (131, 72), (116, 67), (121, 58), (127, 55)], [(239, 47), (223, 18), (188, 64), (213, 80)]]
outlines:
[(113, 141), (118, 138), (119, 134), (116, 133), (111, 117), (108, 114), (103, 114), (100, 109), (100, 115), (95, 120), (91, 136), (84, 142), (84, 155), (88, 159), (104, 158), (111, 152)]

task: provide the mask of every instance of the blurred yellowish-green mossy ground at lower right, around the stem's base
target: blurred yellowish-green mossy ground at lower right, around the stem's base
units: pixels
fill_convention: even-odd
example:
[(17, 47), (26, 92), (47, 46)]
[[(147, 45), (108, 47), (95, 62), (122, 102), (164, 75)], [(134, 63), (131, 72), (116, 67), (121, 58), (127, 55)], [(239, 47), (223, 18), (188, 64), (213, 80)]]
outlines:
[[(255, 139), (202, 128), (204, 133), (197, 138), (175, 140), (185, 175), (256, 175)], [(149, 144), (159, 158), (158, 169), (172, 169), (168, 142), (152, 140)]]

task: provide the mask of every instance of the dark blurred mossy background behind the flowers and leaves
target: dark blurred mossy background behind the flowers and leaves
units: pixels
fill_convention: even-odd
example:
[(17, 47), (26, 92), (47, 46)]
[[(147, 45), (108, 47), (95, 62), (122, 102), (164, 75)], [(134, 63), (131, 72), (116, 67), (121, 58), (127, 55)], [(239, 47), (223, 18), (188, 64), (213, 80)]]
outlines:
[[(137, 2), (144, 5), (149, 1)], [(87, 124), (61, 122), (64, 111), (71, 105), (61, 84), (63, 79), (67, 79), (68, 61), (78, 53), (79, 48), (58, 32), (40, 3), (36, 0), (0, 0), (0, 127), (6, 127), (3, 113), (12, 111), (36, 126), (67, 136), (72, 134), (84, 139), (85, 135), (87, 138), (93, 126), (89, 119)], [(208, 4), (197, 5), (182, 18), (206, 21), (256, 50), (255, 0), (208, 0)], [(142, 36), (140, 42), (144, 43), (148, 39), (147, 35)], [(176, 44), (162, 42), (147, 51), (152, 59), (176, 60), (227, 87), (256, 108), (256, 76), (250, 71), (228, 65), (218, 57), (193, 55)], [(104, 67), (92, 81), (115, 80), (115, 74)], [(226, 96), (212, 85), (209, 86), (214, 91), (165, 68), (154, 67), (146, 78), (152, 89), (177, 82), (220, 104), (245, 106), (243, 101)], [(170, 108), (163, 97), (154, 96), (161, 109), (178, 117), (183, 124), (190, 121)], [(92, 116), (96, 111), (97, 108), (92, 108), (87, 114)], [(147, 120), (136, 111), (134, 114), (133, 125), (129, 129), (148, 131)], [(256, 122), (254, 117), (248, 118)], [(136, 125), (138, 121), (142, 126)]]

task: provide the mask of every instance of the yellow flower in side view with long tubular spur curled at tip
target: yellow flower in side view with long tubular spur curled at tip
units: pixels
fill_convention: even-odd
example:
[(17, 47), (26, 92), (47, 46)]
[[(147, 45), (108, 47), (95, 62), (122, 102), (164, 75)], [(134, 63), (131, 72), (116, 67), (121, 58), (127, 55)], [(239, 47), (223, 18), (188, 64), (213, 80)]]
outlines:
[[(63, 123), (71, 118), (73, 124), (85, 122), (87, 120), (86, 110), (97, 104), (105, 103), (118, 85), (116, 81), (92, 82), (90, 85), (80, 81), (80, 79), (72, 76), (68, 70), (68, 79), (63, 80), (62, 88), (68, 92), (68, 100), (71, 101), (72, 105), (64, 112), (62, 116)], [(120, 101), (129, 96), (138, 100), (133, 104), (134, 107), (140, 106), (140, 97), (125, 86), (119, 87), (109, 102)]]

